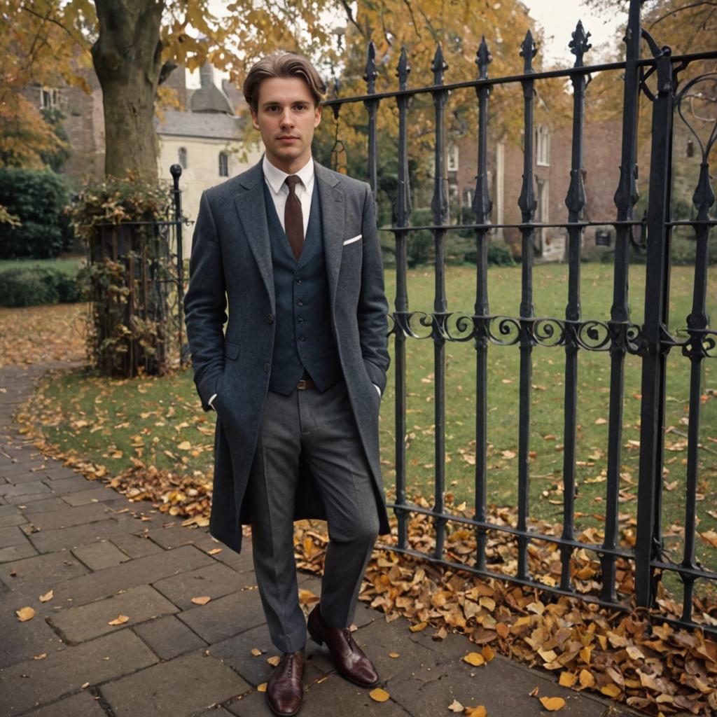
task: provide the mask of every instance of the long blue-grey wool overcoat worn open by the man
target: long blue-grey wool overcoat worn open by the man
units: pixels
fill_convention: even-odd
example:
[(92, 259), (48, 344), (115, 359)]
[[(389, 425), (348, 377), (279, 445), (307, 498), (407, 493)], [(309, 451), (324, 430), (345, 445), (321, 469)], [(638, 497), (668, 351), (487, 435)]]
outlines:
[[(374, 478), (380, 534), (389, 533), (379, 462), (379, 405), (389, 367), (388, 305), (369, 184), (314, 162), (321, 204), (331, 329)], [(272, 370), (275, 295), (261, 161), (201, 195), (184, 298), (194, 383), (205, 411), (217, 410), (214, 490), (209, 532), (234, 551)], [(356, 239), (361, 235), (360, 239)], [(353, 242), (344, 244), (348, 239)], [(226, 293), (226, 295), (225, 295)], [(227, 306), (228, 299), (228, 306)], [(222, 331), (228, 322), (226, 333)], [(313, 476), (301, 464), (295, 520), (326, 512)]]

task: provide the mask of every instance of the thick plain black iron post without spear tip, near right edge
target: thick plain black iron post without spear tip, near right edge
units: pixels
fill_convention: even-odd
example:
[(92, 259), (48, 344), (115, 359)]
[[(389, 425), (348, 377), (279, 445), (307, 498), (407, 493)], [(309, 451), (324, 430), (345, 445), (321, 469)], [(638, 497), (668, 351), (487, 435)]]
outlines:
[[(650, 43), (651, 47), (653, 43)], [(642, 327), (642, 403), (640, 406), (640, 476), (637, 484), (637, 540), (635, 543), (635, 597), (640, 607), (655, 599), (655, 571), (659, 556), (659, 521), (663, 482), (665, 419), (665, 362), (663, 331), (667, 327), (670, 293), (670, 148), (673, 116), (673, 67), (670, 49), (658, 49), (657, 96), (652, 102), (650, 200), (647, 206), (647, 267), (645, 270), (645, 324)]]

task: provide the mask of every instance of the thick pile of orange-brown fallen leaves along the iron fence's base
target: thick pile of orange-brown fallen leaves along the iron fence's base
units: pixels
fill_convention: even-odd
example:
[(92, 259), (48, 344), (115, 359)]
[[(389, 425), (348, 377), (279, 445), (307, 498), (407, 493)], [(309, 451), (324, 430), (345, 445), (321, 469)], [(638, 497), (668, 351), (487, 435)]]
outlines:
[[(499, 511), (491, 516), (495, 518), (508, 522), (510, 511)], [(297, 564), (319, 573), (328, 537), (302, 525), (297, 531)], [(540, 527), (546, 531), (553, 526)], [(433, 533), (431, 518), (414, 514), (409, 546), (430, 553)], [(451, 533), (445, 543), (447, 559), (468, 564), (467, 556), (475, 555), (471, 535), (470, 530)], [(513, 543), (505, 533), (489, 537), (488, 555), (502, 557), (491, 569), (513, 569)], [(541, 579), (556, 570), (559, 575), (554, 543), (531, 543), (529, 565), (531, 574)], [(574, 574), (592, 575), (597, 569), (584, 555), (574, 563)], [(624, 574), (621, 588), (627, 588), (632, 584), (627, 566), (618, 570)], [(381, 609), (389, 622), (404, 616), (414, 631), (434, 628), (434, 640), (450, 631), (467, 635), (480, 645), (480, 652), (472, 653), (480, 664), (481, 657), (487, 662), (494, 651), (500, 652), (559, 673), (565, 687), (595, 690), (650, 714), (717, 713), (717, 642), (701, 630), (675, 629), (654, 619), (651, 625), (644, 615), (609, 611), (570, 597), (544, 593), (541, 600), (536, 590), (384, 549), (374, 551), (360, 599)], [(716, 608), (711, 606), (712, 616)], [(561, 704), (543, 707), (555, 710)]]

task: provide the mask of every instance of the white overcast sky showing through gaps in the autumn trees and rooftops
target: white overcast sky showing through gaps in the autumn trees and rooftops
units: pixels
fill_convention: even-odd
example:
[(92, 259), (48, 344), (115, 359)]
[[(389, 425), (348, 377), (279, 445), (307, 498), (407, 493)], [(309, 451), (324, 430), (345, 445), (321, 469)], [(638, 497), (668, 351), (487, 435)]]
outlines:
[[(589, 8), (584, 0), (523, 0), (523, 3), (533, 19), (545, 30), (545, 47), (539, 51), (546, 65), (558, 67), (568, 67), (574, 62), (568, 43), (578, 20), (582, 20), (584, 28), (591, 33), (589, 42), (592, 42), (592, 49), (586, 56), (586, 64), (590, 65), (600, 62), (602, 54), (614, 47), (615, 38), (621, 37), (620, 28), (627, 20), (627, 9), (622, 13), (599, 14)], [(228, 0), (212, 0), (212, 7), (217, 14), (227, 4)], [(214, 72), (214, 82), (219, 87), (222, 77), (228, 77), (228, 74)], [(186, 80), (187, 87), (199, 87), (199, 70), (187, 72)]]

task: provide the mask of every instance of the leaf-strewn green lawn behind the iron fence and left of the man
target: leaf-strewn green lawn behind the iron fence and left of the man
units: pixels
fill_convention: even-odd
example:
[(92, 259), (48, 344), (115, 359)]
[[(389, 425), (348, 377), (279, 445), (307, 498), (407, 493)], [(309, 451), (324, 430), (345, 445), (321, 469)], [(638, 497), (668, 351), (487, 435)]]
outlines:
[[(714, 270), (712, 270), (714, 271)], [(475, 293), (475, 267), (448, 267), (448, 308), (472, 313)], [(670, 329), (685, 326), (692, 300), (693, 270), (675, 267), (672, 274)], [(717, 284), (711, 275), (708, 309), (717, 313)], [(630, 272), (632, 320), (640, 323), (644, 310), (645, 267)], [(518, 315), (521, 291), (520, 267), (492, 268), (489, 272), (490, 311)], [(395, 272), (386, 272), (386, 295), (393, 303)], [(582, 266), (582, 308), (584, 318), (606, 320), (612, 300), (612, 267), (603, 264)], [(539, 265), (534, 271), (536, 315), (564, 316), (567, 302), (566, 265)], [(411, 310), (432, 310), (433, 271), (429, 267), (409, 272)], [(425, 333), (425, 330), (424, 330)], [(390, 341), (393, 352), (393, 338)], [(490, 346), (488, 386), (488, 495), (490, 503), (515, 505), (518, 450), (518, 346)], [(433, 495), (435, 466), (433, 400), (434, 359), (429, 339), (407, 341), (409, 369), (407, 385), (407, 425), (409, 495), (420, 492), (429, 500)], [(564, 432), (563, 348), (536, 347), (533, 351), (531, 404), (531, 514), (561, 522)], [(381, 407), (381, 460), (389, 500), (394, 496), (394, 379), (393, 367)], [(701, 451), (698, 503), (701, 523), (698, 530), (714, 530), (717, 484), (717, 389), (715, 361), (703, 362)], [(667, 381), (667, 425), (686, 434), (690, 361), (680, 351), (670, 353)], [(605, 466), (607, 455), (609, 353), (581, 351), (579, 354), (579, 422), (577, 426), (576, 498), (578, 528), (599, 526), (604, 514)], [(446, 346), (446, 488), (457, 503), (473, 502), (475, 468), (470, 455), (475, 452), (475, 349), (472, 342)], [(620, 512), (634, 516), (636, 511), (640, 439), (640, 359), (625, 361), (625, 422), (622, 444), (622, 502)], [(45, 433), (64, 450), (75, 450), (118, 473), (130, 465), (130, 457), (158, 467), (174, 468), (206, 480), (211, 475), (213, 414), (204, 414), (194, 392), (191, 370), (164, 379), (106, 381), (87, 379), (81, 372), (46, 381), (38, 394), (43, 405)], [(684, 522), (685, 439), (675, 432), (665, 436), (665, 497), (663, 524), (668, 545), (680, 541)], [(180, 447), (181, 446), (181, 447)], [(189, 447), (188, 447), (189, 446)], [(711, 451), (711, 452), (710, 452)], [(710, 514), (710, 511), (712, 515)], [(670, 542), (672, 541), (672, 542)], [(698, 540), (703, 562), (717, 569), (717, 551)], [(679, 560), (679, 553), (673, 555)]]

